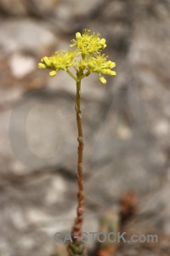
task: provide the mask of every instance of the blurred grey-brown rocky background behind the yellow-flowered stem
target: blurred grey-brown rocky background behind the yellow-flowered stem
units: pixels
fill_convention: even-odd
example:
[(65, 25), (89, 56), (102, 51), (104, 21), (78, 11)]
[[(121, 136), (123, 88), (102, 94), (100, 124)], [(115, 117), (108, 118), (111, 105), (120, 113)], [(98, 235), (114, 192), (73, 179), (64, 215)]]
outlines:
[[(83, 28), (106, 38), (117, 72), (82, 82), (84, 230), (133, 189), (141, 234), (170, 236), (170, 1), (0, 0), (0, 24), (0, 255), (50, 256), (73, 224), (76, 86), (37, 63)], [(164, 244), (117, 255), (169, 255)]]

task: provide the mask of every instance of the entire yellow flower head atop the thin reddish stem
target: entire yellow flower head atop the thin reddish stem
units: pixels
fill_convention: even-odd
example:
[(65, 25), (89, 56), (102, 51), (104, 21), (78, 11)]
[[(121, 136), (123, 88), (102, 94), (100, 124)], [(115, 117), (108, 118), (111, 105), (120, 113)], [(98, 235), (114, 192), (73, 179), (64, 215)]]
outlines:
[[(51, 69), (50, 76), (56, 75), (59, 70), (65, 70), (76, 81), (80, 81), (90, 73), (99, 73), (99, 80), (105, 84), (106, 80), (101, 74), (115, 76), (116, 72), (111, 69), (116, 66), (116, 63), (107, 61), (107, 57), (100, 54), (106, 44), (105, 38), (99, 38), (99, 36), (99, 33), (90, 34), (88, 29), (84, 29), (82, 34), (77, 32), (76, 39), (71, 40), (70, 45), (76, 46), (75, 50), (68, 52), (61, 50), (50, 57), (45, 56), (38, 67)], [(75, 69), (76, 75), (71, 73), (69, 67)]]

